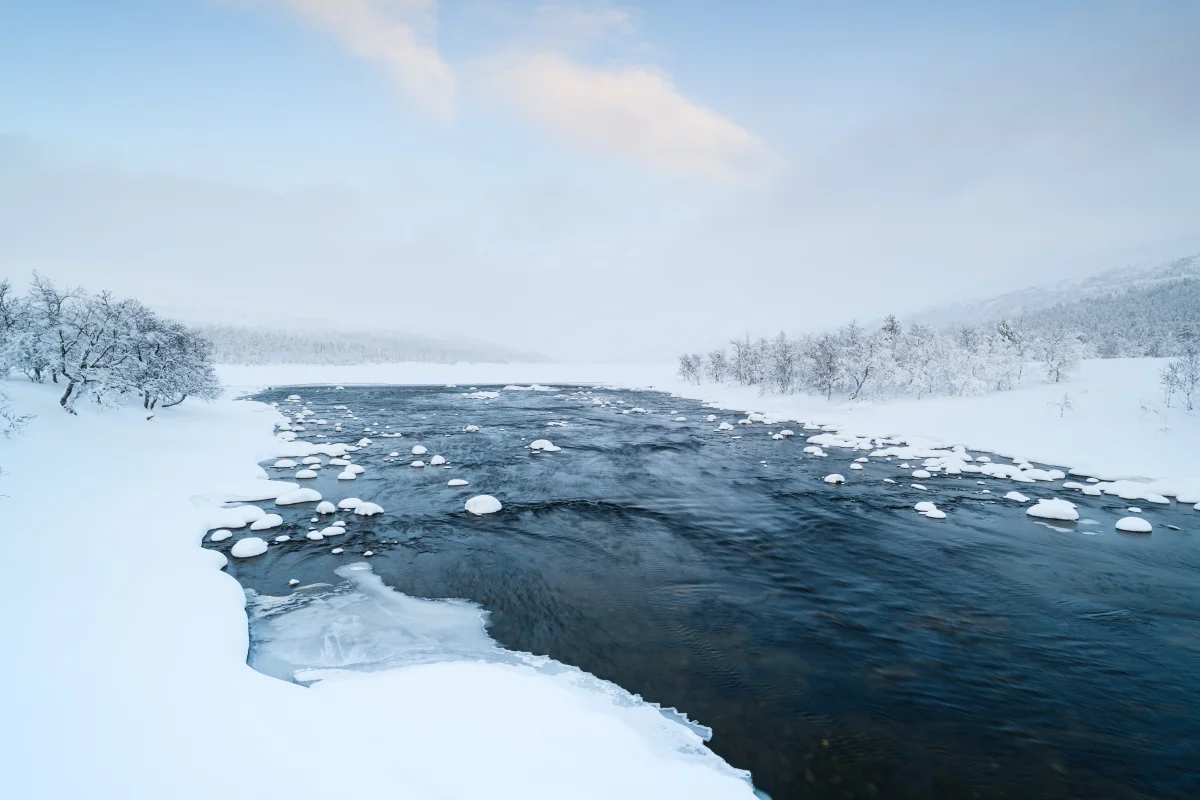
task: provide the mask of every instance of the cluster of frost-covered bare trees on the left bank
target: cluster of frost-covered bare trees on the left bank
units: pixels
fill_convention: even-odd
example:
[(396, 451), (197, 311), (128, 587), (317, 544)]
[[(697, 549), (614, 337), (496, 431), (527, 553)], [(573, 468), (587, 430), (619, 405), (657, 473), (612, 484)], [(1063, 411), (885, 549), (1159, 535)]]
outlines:
[(59, 405), (137, 398), (146, 409), (215, 399), (212, 345), (137, 300), (67, 289), (34, 275), (19, 294), (0, 281), (0, 374), (58, 384)]

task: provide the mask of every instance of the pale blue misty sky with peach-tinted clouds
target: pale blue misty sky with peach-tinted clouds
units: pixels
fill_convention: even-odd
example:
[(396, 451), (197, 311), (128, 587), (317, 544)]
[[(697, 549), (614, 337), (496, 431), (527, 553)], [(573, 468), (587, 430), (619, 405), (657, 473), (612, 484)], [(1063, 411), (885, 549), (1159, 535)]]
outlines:
[(0, 276), (660, 360), (1200, 252), (1200, 4), (0, 0)]

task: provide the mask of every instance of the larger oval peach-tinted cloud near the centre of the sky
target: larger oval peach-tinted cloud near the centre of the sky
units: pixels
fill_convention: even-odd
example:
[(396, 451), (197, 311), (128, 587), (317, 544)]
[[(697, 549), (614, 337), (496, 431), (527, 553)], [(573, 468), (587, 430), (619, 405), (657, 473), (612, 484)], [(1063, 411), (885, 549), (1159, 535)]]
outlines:
[(709, 180), (757, 173), (768, 154), (752, 133), (676, 89), (653, 67), (587, 67), (554, 53), (485, 62), (491, 89), (569, 145), (656, 172)]

